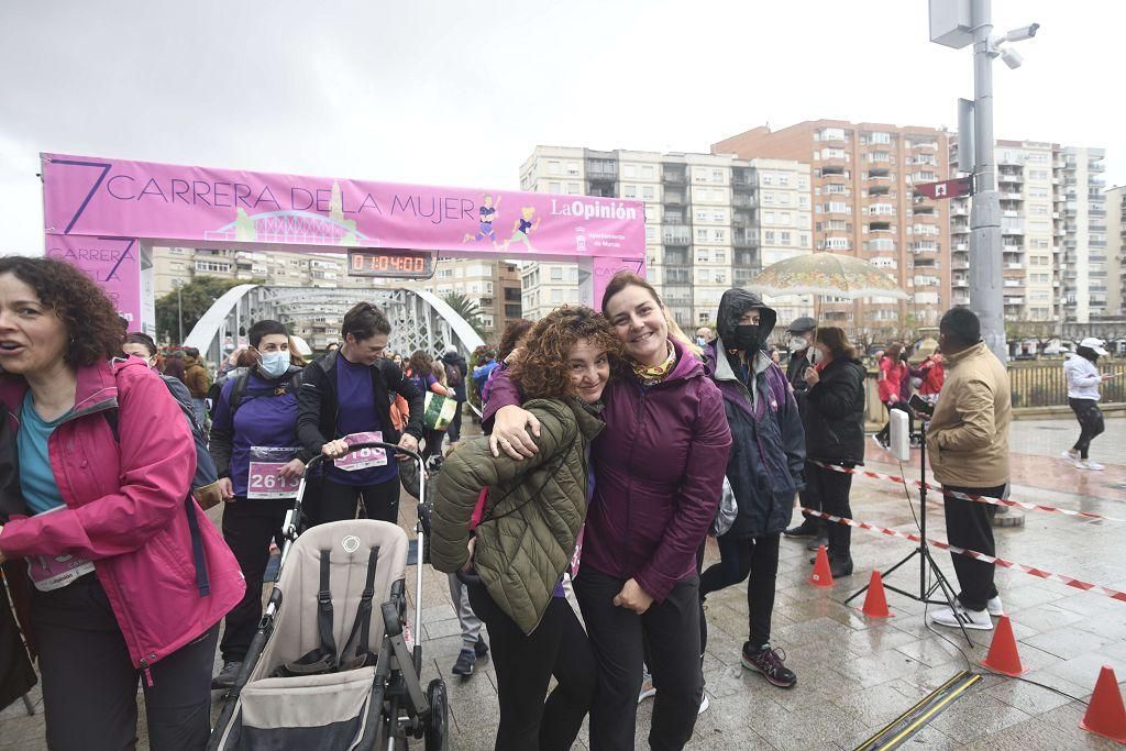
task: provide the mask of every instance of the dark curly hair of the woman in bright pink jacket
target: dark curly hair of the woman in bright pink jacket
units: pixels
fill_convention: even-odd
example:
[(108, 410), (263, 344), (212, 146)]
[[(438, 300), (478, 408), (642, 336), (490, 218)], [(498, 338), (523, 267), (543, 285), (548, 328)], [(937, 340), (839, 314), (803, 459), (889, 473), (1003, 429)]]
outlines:
[(70, 338), (63, 360), (87, 367), (122, 355), (122, 322), (114, 303), (98, 284), (70, 263), (53, 258), (7, 256), (0, 274), (11, 274), (35, 290), (55, 312)]

